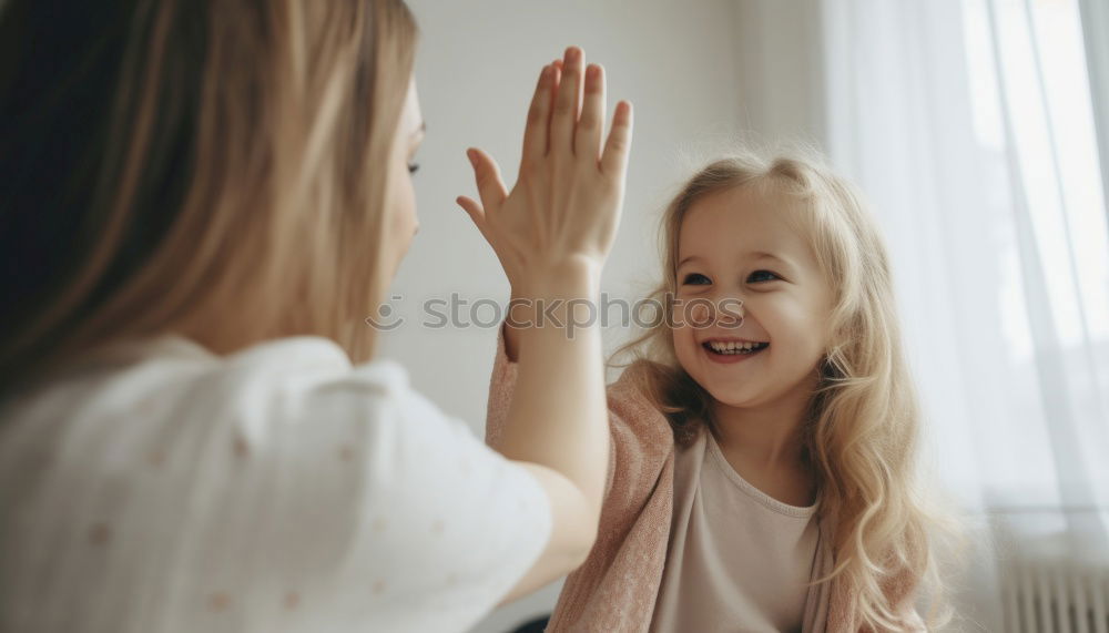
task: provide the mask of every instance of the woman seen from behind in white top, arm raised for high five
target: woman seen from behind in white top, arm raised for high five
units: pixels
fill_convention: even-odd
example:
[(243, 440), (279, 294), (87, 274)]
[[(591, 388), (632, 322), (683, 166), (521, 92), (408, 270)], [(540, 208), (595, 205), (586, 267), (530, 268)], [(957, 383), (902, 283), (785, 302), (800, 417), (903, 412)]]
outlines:
[[(0, 630), (464, 631), (584, 560), (597, 327), (520, 334), (499, 453), (374, 358), (415, 44), (400, 0), (6, 3)], [(529, 299), (597, 292), (603, 85), (545, 67), (516, 187), (479, 182)]]

